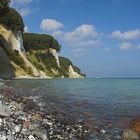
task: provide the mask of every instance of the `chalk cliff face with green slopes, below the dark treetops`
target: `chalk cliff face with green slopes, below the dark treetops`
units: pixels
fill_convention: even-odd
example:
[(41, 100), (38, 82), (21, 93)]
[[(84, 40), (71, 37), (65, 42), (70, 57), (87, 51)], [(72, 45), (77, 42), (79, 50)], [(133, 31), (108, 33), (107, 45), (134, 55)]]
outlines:
[[(23, 45), (21, 31), (13, 32), (11, 30), (6, 29), (1, 24), (0, 24), (0, 47), (1, 47), (0, 55), (1, 56), (3, 55), (4, 58), (7, 60), (7, 64), (10, 67), (8, 73), (12, 73), (9, 75), (11, 77), (21, 77), (21, 78), (84, 77), (79, 71), (76, 72), (74, 70), (73, 65), (71, 64), (69, 64), (69, 66), (64, 70), (63, 67), (65, 64), (60, 63), (58, 53), (55, 49), (49, 48), (47, 49), (47, 51), (44, 50), (43, 53), (40, 50), (27, 53)], [(12, 55), (9, 49), (12, 52)], [(6, 50), (6, 52), (8, 53), (7, 54), (4, 53), (4, 50)], [(14, 50), (16, 50), (16, 52), (14, 52)], [(15, 56), (16, 59), (13, 56), (14, 54), (16, 55)], [(0, 64), (1, 63), (4, 66), (4, 59), (0, 60)], [(5, 68), (8, 69), (8, 67)], [(3, 70), (1, 69), (0, 71), (0, 77), (2, 77), (1, 76), (3, 74), (2, 71), (4, 71), (4, 67)]]

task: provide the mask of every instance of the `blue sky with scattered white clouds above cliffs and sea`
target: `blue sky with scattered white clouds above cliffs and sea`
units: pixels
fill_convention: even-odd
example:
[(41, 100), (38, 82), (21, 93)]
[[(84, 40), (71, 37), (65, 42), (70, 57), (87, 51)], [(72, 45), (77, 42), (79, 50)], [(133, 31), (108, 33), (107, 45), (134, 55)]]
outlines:
[(87, 77), (140, 77), (140, 0), (12, 0), (25, 31), (50, 34)]

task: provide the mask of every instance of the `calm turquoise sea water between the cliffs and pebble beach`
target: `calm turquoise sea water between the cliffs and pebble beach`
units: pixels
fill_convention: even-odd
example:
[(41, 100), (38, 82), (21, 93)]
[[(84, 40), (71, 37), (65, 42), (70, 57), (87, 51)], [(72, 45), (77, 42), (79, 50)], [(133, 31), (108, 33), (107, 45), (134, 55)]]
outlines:
[(140, 115), (140, 79), (13, 80), (8, 84), (29, 89), (54, 109), (81, 117), (119, 122)]

